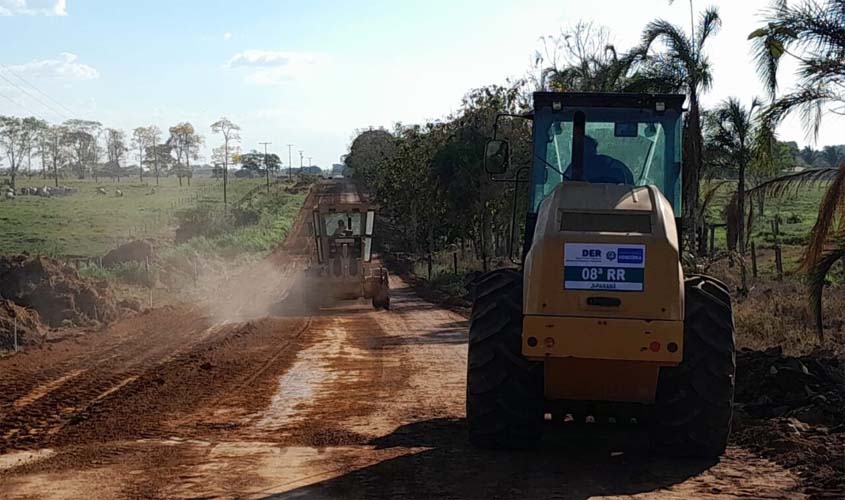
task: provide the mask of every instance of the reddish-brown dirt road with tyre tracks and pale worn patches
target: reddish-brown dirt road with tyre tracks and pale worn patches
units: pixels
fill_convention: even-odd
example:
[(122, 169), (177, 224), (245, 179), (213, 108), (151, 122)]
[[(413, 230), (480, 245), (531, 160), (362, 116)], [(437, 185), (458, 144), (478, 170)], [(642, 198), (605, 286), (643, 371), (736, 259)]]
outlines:
[(391, 311), (259, 300), (289, 286), (292, 248), (226, 300), (0, 360), (0, 498), (802, 497), (740, 448), (658, 460), (576, 428), (530, 452), (474, 449), (465, 319), (398, 279)]

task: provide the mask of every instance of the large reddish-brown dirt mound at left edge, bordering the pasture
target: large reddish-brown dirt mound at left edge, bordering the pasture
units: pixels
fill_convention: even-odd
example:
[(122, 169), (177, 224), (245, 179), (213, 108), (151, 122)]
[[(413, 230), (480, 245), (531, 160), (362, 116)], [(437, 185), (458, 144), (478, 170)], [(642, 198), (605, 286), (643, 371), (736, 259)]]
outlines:
[(48, 257), (0, 256), (0, 297), (38, 312), (51, 327), (88, 326), (118, 319), (108, 283), (82, 278)]

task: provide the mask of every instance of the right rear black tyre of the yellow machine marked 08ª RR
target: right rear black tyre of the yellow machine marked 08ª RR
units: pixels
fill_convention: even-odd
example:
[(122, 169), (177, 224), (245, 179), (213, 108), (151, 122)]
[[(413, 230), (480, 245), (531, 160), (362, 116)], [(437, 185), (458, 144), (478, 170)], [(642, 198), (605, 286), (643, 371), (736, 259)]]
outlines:
[(661, 368), (651, 443), (660, 454), (715, 458), (731, 430), (736, 352), (730, 295), (722, 283), (684, 283), (684, 357)]

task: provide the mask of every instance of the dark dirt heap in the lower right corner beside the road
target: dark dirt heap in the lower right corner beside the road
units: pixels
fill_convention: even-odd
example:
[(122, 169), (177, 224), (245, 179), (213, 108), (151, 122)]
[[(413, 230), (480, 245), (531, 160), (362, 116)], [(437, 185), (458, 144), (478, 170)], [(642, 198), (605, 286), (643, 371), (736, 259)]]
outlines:
[(735, 444), (798, 471), (811, 498), (845, 492), (845, 363), (779, 348), (737, 353)]

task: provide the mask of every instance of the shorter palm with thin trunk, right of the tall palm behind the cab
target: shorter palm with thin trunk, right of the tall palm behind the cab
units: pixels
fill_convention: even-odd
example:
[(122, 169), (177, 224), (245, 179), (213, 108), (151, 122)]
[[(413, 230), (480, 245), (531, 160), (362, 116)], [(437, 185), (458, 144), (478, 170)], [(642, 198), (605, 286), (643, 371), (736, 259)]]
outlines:
[(772, 158), (775, 137), (760, 118), (761, 103), (757, 99), (746, 108), (735, 97), (722, 101), (707, 114), (705, 121), (708, 159), (716, 166), (736, 169), (737, 187), (730, 206), (733, 217), (729, 221), (728, 241), (732, 248), (745, 252), (746, 247), (746, 185), (748, 170), (754, 162), (768, 162)]

